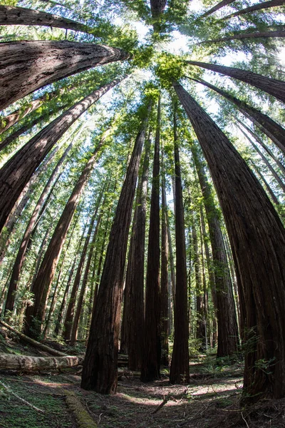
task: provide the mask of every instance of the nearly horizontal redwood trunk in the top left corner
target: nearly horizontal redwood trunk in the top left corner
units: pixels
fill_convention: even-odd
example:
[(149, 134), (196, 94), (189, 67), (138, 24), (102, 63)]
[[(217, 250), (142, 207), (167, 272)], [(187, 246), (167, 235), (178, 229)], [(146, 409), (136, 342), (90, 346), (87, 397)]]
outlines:
[[(24, 7), (4, 6), (3, 4), (0, 5), (0, 25), (38, 25), (90, 32), (85, 24), (63, 18), (63, 16)], [(93, 33), (94, 31), (92, 31)]]

